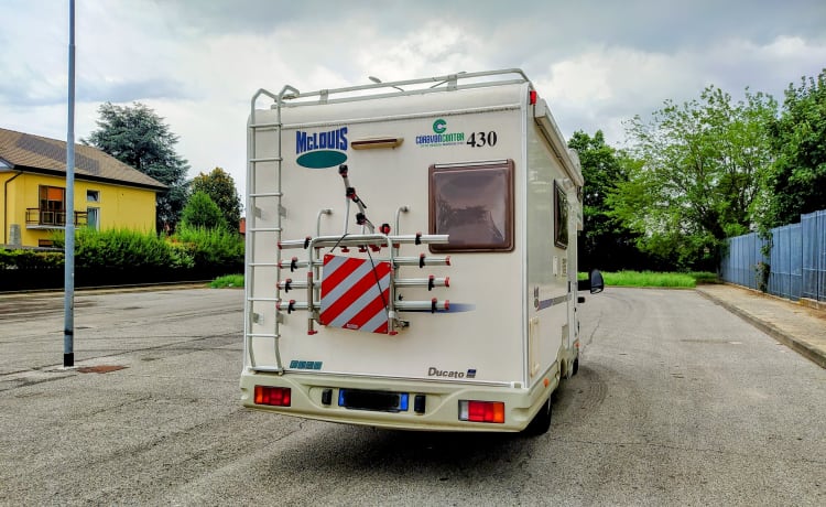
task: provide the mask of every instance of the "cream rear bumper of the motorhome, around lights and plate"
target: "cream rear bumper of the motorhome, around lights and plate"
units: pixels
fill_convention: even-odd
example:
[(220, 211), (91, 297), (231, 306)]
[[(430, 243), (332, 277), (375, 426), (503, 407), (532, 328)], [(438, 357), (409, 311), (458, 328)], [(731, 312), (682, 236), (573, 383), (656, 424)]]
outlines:
[[(355, 378), (286, 373), (283, 375), (244, 370), (241, 375), (241, 401), (256, 410), (330, 422), (362, 424), (400, 430), (517, 432), (523, 430), (558, 385), (558, 369), (548, 371), (547, 386), (541, 378), (530, 389), (469, 382), (431, 382), (414, 379)], [(254, 387), (291, 389), (290, 407), (256, 404)], [(362, 389), (407, 393), (404, 411), (376, 411), (339, 407), (341, 389)], [(323, 402), (326, 390), (330, 402)], [(423, 412), (413, 400), (424, 396)], [(504, 422), (485, 423), (459, 420), (459, 400), (503, 401)], [(421, 408), (421, 407), (420, 407)]]

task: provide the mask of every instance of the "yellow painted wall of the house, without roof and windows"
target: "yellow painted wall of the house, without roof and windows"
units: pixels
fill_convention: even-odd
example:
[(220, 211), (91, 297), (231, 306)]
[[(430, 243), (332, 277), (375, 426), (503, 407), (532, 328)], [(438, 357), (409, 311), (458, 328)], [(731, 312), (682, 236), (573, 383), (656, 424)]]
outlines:
[[(36, 247), (39, 239), (48, 239), (55, 229), (35, 229), (26, 226), (25, 209), (36, 208), (40, 199), (40, 185), (66, 187), (64, 177), (23, 173), (8, 186), (4, 184), (17, 173), (0, 173), (0, 193), (6, 193), (7, 202), (0, 220), (6, 230), (0, 242), (8, 242), (12, 224), (20, 224), (23, 246)], [(98, 202), (87, 201), (87, 191), (98, 192)], [(0, 194), (2, 195), (2, 194)], [(110, 183), (75, 180), (75, 212), (99, 208), (100, 230), (132, 229), (155, 230), (155, 192)]]

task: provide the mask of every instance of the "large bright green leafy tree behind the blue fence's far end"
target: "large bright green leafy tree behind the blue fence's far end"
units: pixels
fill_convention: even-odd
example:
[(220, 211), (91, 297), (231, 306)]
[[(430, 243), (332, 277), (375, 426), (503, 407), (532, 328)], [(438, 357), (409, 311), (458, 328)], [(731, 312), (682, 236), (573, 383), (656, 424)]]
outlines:
[(772, 161), (768, 126), (776, 103), (714, 86), (699, 100), (669, 100), (650, 122), (628, 125), (629, 180), (608, 197), (612, 216), (640, 234), (641, 249), (677, 268), (714, 269), (724, 238), (754, 225), (756, 196)]

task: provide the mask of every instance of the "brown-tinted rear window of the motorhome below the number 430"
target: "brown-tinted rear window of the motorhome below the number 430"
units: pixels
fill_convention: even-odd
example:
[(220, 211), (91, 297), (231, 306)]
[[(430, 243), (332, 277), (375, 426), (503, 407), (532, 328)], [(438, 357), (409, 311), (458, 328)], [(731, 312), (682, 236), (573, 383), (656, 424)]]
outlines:
[(446, 234), (433, 251), (513, 249), (513, 161), (431, 165), (430, 233)]

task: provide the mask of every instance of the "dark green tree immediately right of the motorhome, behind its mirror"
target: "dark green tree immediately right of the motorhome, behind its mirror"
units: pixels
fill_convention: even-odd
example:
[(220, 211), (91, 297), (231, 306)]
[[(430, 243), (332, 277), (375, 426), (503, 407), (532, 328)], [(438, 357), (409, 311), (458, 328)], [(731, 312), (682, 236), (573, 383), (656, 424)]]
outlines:
[(582, 130), (574, 132), (568, 148), (577, 151), (585, 179), (585, 230), (578, 237), (580, 266), (608, 271), (653, 268), (648, 256), (637, 248), (638, 234), (610, 215), (606, 201), (618, 183), (628, 181), (622, 153), (606, 144), (601, 130), (597, 130), (594, 137)]

